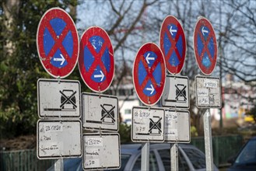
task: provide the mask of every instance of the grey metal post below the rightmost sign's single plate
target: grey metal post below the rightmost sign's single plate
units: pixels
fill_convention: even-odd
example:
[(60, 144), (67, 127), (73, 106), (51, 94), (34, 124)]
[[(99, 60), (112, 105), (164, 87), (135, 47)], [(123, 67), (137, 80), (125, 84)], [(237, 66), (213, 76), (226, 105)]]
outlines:
[(212, 126), (210, 109), (204, 113), (204, 134), (205, 134), (205, 159), (206, 170), (213, 170), (213, 155), (212, 155)]

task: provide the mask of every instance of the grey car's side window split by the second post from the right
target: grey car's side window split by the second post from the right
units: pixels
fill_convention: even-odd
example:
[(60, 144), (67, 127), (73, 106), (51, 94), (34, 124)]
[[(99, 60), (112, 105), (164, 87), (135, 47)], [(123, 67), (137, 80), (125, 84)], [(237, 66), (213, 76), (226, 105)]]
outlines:
[[(170, 149), (163, 149), (158, 151), (160, 154), (160, 157), (163, 162), (164, 169), (167, 171), (170, 170)], [(181, 152), (179, 152), (179, 160), (178, 160), (178, 165), (179, 165), (179, 170), (180, 171), (186, 171), (188, 169), (188, 164), (186, 160), (184, 159), (183, 155), (181, 155)]]

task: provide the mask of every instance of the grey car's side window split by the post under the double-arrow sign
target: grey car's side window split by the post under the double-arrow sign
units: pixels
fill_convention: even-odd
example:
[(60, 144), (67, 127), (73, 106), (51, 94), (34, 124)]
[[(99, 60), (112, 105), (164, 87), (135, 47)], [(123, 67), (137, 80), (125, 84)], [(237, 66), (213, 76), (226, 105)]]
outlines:
[[(142, 165), (142, 155), (140, 155), (138, 157), (138, 159), (135, 162), (135, 165), (133, 166), (132, 170), (133, 171), (139, 171), (141, 170), (141, 165)], [(154, 154), (154, 152), (150, 152), (149, 153), (149, 170), (150, 171), (155, 171), (155, 170), (159, 170), (158, 169), (158, 164), (156, 162), (156, 155)]]

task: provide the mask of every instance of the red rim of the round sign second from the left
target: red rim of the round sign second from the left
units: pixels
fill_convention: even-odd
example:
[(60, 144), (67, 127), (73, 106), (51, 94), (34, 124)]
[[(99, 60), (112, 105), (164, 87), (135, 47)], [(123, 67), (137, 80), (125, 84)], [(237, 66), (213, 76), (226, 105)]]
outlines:
[[(89, 44), (89, 37), (92, 37), (92, 36), (103, 37), (103, 40), (107, 41), (104, 44), (109, 44), (108, 48), (109, 48), (109, 51), (110, 51), (109, 52), (109, 54), (110, 54), (110, 66), (113, 66), (113, 67), (110, 68), (110, 73), (109, 74), (103, 73), (104, 76), (106, 76), (106, 80), (104, 82), (94, 82), (92, 79), (90, 79), (90, 76), (93, 73), (90, 73), (90, 75), (88, 75), (87, 74), (88, 72), (86, 72), (85, 66), (83, 65), (83, 62), (84, 62), (83, 51), (84, 51), (84, 47), (85, 47), (83, 45), (88, 44), (89, 45), (88, 47), (93, 48), (93, 46), (91, 44)], [(83, 41), (85, 41), (85, 42), (83, 42)], [(99, 59), (96, 59), (96, 60), (99, 60)], [(101, 69), (103, 70), (103, 68), (101, 68)], [(114, 79), (114, 70), (115, 70), (114, 50), (113, 50), (113, 46), (112, 46), (110, 37), (108, 36), (107, 32), (105, 30), (103, 30), (100, 26), (91, 26), (91, 27), (89, 27), (84, 33), (82, 33), (82, 37), (81, 37), (81, 40), (80, 40), (79, 72), (80, 72), (80, 75), (82, 77), (83, 82), (85, 82), (86, 86), (88, 86), (89, 89), (93, 90), (94, 92), (104, 92), (110, 87), (110, 85), (111, 85), (111, 83)], [(111, 77), (111, 78), (107, 79), (107, 77)]]

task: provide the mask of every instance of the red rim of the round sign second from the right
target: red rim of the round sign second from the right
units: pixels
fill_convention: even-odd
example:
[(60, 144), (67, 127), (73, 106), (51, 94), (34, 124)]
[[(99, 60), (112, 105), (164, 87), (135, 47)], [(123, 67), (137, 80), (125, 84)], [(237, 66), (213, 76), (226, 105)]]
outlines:
[[(166, 65), (167, 65), (168, 72), (170, 72), (170, 74), (180, 74), (183, 67), (184, 67), (184, 61), (185, 61), (186, 54), (187, 54), (187, 40), (186, 40), (186, 37), (185, 37), (184, 29), (181, 26), (181, 23), (178, 21), (178, 19), (175, 16), (167, 16), (165, 19), (163, 19), (163, 23), (162, 23), (161, 28), (160, 28), (160, 49), (163, 52), (163, 37), (164, 37), (164, 33), (165, 33), (164, 31), (167, 30), (167, 29), (163, 29), (163, 28), (164, 28), (164, 26), (167, 26), (170, 23), (174, 23), (177, 26), (177, 34), (180, 34), (181, 38), (184, 40), (184, 41), (182, 41), (182, 45), (184, 47), (183, 55), (182, 55), (181, 58), (179, 58), (179, 60), (181, 60), (181, 64), (178, 65), (177, 67), (171, 66), (170, 63), (167, 62), (167, 61), (169, 61), (169, 58), (170, 58), (171, 54), (169, 55), (169, 57), (167, 57), (165, 54), (163, 54), (163, 57), (166, 60)], [(169, 38), (172, 39), (172, 37), (169, 37)], [(174, 40), (175, 43), (177, 43), (178, 38), (179, 37), (175, 38), (175, 40)], [(175, 48), (175, 50), (174, 50), (174, 48)], [(171, 44), (171, 47), (170, 47), (169, 51), (176, 51), (176, 54), (179, 55), (179, 52), (177, 51), (176, 44), (174, 44), (174, 45)]]

